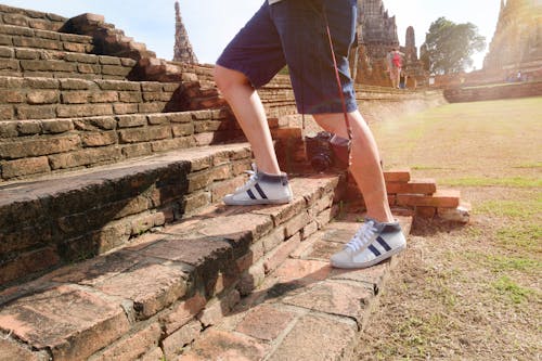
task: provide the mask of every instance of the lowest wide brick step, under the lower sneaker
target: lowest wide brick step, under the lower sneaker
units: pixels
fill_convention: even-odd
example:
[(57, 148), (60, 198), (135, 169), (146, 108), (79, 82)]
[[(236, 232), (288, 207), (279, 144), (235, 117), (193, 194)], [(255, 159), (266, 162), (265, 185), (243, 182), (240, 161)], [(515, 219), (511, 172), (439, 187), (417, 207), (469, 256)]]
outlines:
[[(399, 218), (409, 234), (412, 219)], [(333, 221), (304, 240), (294, 252), (282, 252), (280, 263), (267, 262), (275, 267), (266, 268), (269, 274), (262, 284), (230, 312), (199, 318), (206, 326), (202, 334), (194, 323), (185, 323), (167, 335), (162, 343), (165, 358), (353, 360), (360, 332), (366, 326), (390, 270), (398, 263), (395, 256), (365, 270), (333, 269), (331, 255), (358, 228), (358, 222)], [(212, 307), (206, 306), (203, 314), (210, 313)]]

